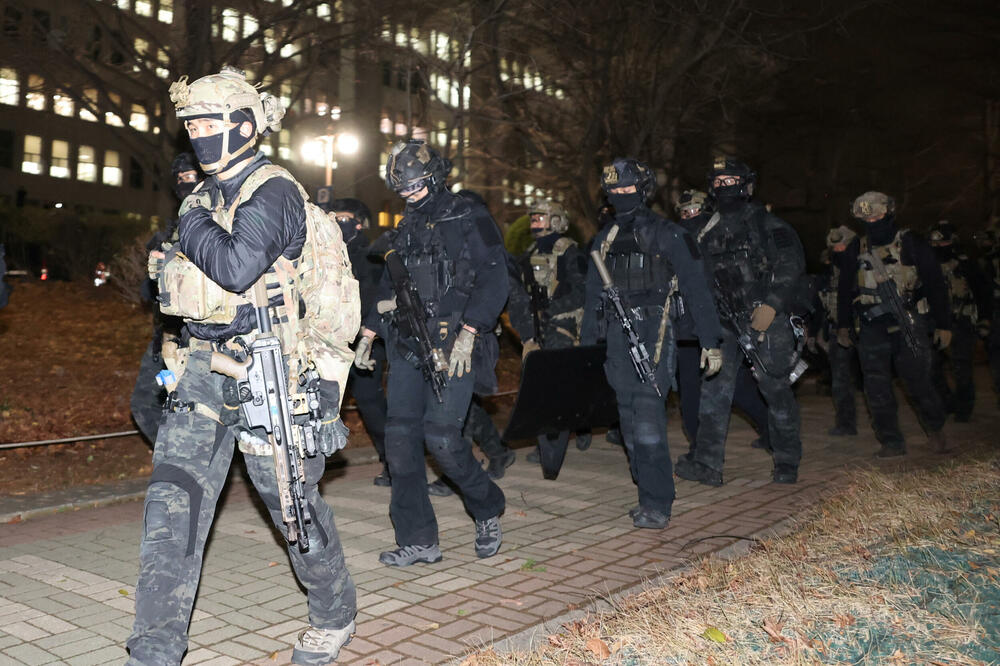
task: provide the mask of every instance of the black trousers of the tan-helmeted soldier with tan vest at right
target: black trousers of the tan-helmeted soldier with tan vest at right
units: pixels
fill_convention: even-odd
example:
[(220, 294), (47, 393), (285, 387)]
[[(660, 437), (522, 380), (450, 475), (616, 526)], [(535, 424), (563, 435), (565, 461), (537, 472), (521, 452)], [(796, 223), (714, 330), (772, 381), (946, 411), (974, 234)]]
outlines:
[(905, 448), (899, 429), (899, 404), (892, 388), (893, 370), (903, 380), (925, 431), (940, 431), (947, 416), (931, 382), (930, 327), (923, 318), (917, 322), (917, 333), (921, 345), (916, 354), (903, 342), (898, 330), (889, 331), (885, 321), (863, 322), (858, 334), (858, 360), (872, 427), (878, 441), (890, 448)]

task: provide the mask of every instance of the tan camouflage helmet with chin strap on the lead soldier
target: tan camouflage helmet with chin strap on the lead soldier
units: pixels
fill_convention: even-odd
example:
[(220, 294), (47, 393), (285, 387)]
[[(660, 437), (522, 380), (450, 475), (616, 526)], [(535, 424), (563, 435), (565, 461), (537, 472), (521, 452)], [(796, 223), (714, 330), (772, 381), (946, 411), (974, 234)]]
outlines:
[[(170, 101), (182, 121), (218, 118), (230, 123), (249, 117), (258, 134), (266, 136), (281, 129), (281, 119), (285, 116), (281, 101), (268, 93), (259, 93), (247, 81), (243, 70), (225, 65), (218, 74), (203, 76), (191, 84), (187, 80), (185, 75), (170, 84)], [(221, 159), (201, 167), (206, 173), (215, 173), (231, 163), (232, 158), (252, 148), (254, 143), (249, 141), (230, 153), (229, 135), (226, 133)]]

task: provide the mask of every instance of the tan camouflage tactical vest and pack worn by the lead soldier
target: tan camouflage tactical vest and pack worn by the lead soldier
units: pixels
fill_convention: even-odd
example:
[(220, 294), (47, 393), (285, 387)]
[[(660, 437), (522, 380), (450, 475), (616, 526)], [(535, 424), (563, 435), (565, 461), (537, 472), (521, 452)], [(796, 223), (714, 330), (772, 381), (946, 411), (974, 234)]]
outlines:
[[(354, 358), (349, 345), (361, 325), (361, 303), (340, 228), (309, 201), (288, 171), (273, 164), (247, 176), (228, 207), (219, 202), (212, 220), (232, 232), (240, 203), (271, 178), (295, 183), (306, 209), (306, 241), (299, 258), (279, 256), (264, 277), (273, 330), (290, 359), (289, 384), (294, 389), (298, 375), (314, 365), (320, 377), (343, 387)], [(168, 294), (161, 311), (187, 321), (226, 324), (233, 320), (238, 306), (251, 302), (249, 295), (219, 287), (179, 252), (164, 265), (159, 283), (161, 293)], [(252, 340), (254, 333), (244, 337)], [(185, 360), (176, 360), (178, 369), (183, 369)]]

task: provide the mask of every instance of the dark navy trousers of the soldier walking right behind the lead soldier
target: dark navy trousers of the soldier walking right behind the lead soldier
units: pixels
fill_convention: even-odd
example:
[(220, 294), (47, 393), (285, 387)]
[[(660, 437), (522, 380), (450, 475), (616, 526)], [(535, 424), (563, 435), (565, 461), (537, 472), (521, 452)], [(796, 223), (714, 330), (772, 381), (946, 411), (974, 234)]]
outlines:
[(392, 476), (389, 516), (400, 546), (438, 543), (437, 518), (427, 494), (425, 444), (444, 475), (458, 486), (473, 518), (485, 520), (504, 509), (503, 491), (462, 437), (474, 384), (471, 372), (449, 378), (442, 392), (444, 402), (439, 403), (421, 371), (389, 345), (385, 453)]

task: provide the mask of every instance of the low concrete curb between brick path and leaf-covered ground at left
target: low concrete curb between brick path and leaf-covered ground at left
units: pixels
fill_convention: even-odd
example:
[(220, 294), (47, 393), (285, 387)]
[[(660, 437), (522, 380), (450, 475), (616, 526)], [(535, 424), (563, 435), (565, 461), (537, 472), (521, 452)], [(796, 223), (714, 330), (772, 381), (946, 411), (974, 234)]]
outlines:
[[(351, 465), (369, 465), (378, 462), (378, 454), (371, 447), (345, 449), (327, 461), (327, 468), (336, 469)], [(239, 474), (230, 477), (238, 482)], [(146, 497), (149, 477), (126, 479), (113, 483), (77, 486), (23, 497), (0, 497), (0, 525), (19, 523), (63, 511), (92, 509), (121, 502), (141, 500)]]

